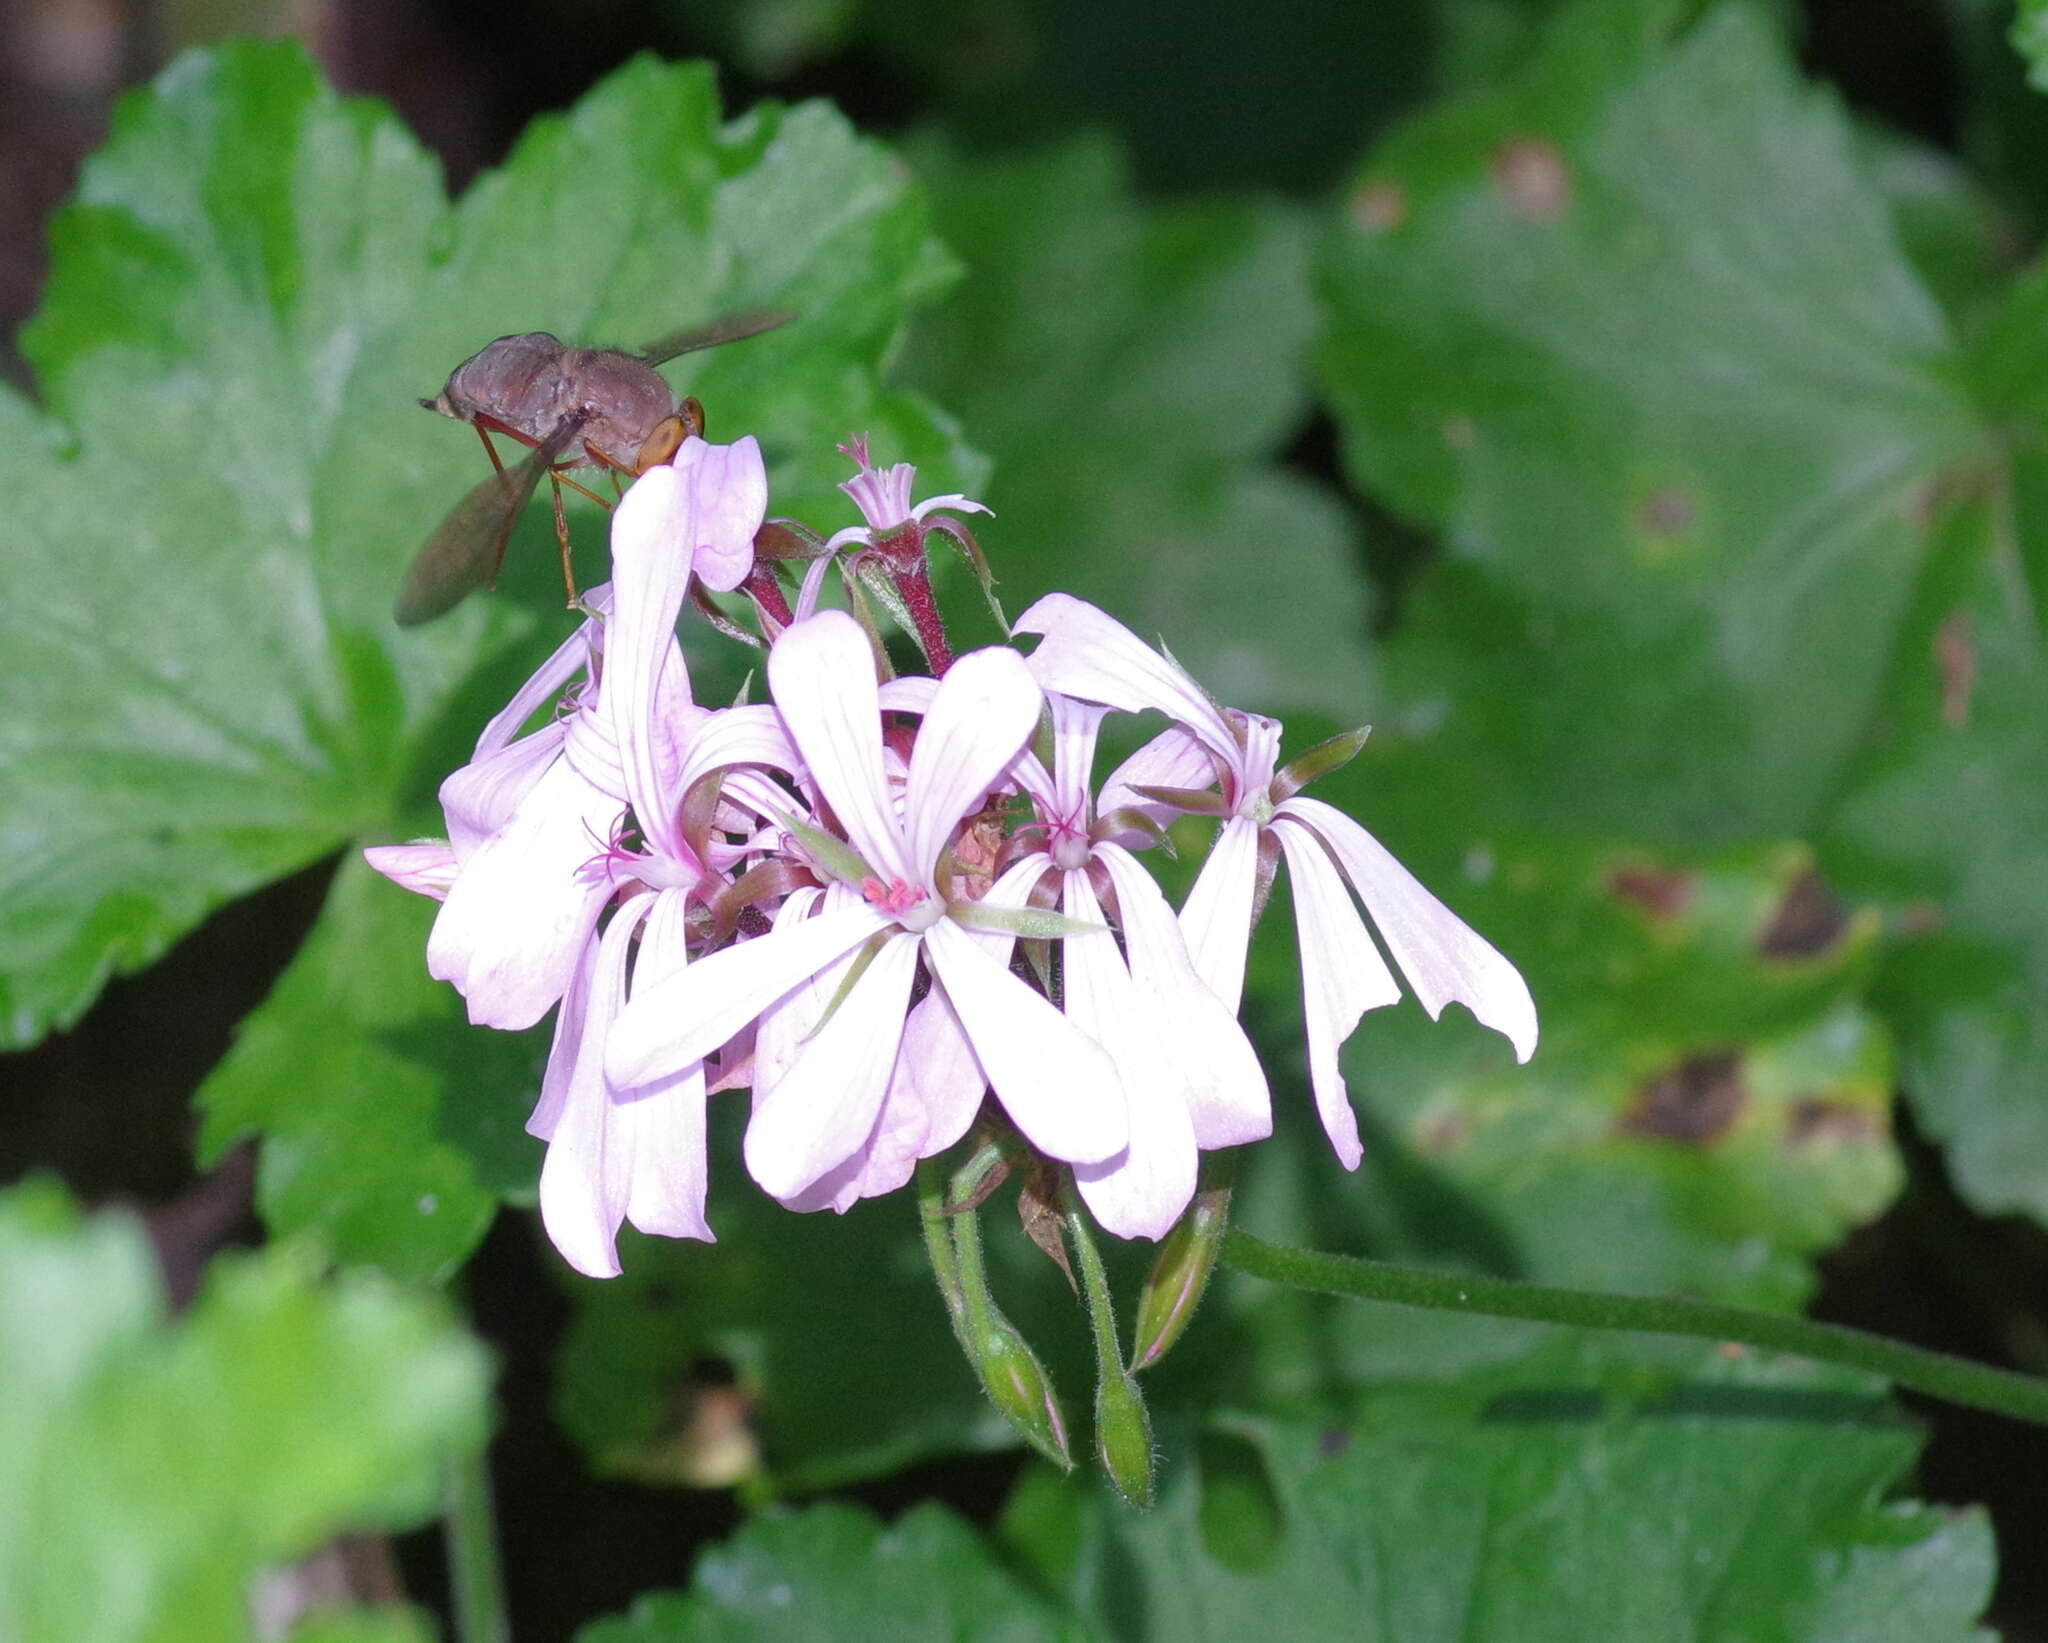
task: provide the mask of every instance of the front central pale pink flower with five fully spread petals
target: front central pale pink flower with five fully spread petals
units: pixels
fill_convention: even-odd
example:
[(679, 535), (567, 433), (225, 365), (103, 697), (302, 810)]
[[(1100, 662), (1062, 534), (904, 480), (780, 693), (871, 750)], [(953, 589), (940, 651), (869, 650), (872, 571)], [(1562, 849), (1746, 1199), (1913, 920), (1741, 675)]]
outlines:
[[(778, 920), (772, 932), (643, 989), (612, 1028), (612, 1078), (639, 1084), (700, 1059), (854, 955), (844, 996), (786, 1065), (776, 1065), (768, 1022), (770, 1043), (756, 1043), (756, 1076), (766, 1059), (772, 1086), (766, 1078), (756, 1086), (745, 1157), (768, 1192), (815, 1200), (827, 1176), (866, 1168), (852, 1160), (870, 1149), (879, 1125), (891, 1153), (950, 1145), (973, 1119), (983, 1078), (1040, 1151), (1083, 1164), (1112, 1157), (1126, 1139), (1114, 1063), (1010, 973), (1014, 924), (1004, 922), (1001, 901), (993, 893), (958, 901), (940, 881), (961, 819), (1038, 719), (1040, 692), (1022, 658), (997, 647), (948, 670), (930, 692), (901, 793), (887, 781), (874, 656), (852, 617), (825, 610), (791, 627), (768, 656), (768, 684), (842, 834), (805, 828), (803, 844), (819, 871), (858, 895), (821, 897), (813, 916)], [(932, 1061), (954, 1067), (938, 1094), (897, 1073), (920, 961), (948, 1000), (948, 1014), (926, 1012), (924, 1028), (958, 1039)], [(885, 1110), (891, 1094), (897, 1110)], [(827, 1200), (844, 1186), (834, 1184)]]

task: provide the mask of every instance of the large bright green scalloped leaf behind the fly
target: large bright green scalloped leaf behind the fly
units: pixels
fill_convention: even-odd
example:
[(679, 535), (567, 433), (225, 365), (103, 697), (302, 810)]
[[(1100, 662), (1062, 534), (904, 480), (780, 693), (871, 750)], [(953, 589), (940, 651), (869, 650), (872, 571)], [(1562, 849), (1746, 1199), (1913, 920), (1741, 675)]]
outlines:
[[(0, 570), (0, 1039), (74, 1020), (223, 899), (397, 832), (559, 631), (545, 508), (512, 596), (391, 625), (481, 463), (414, 404), (457, 361), (510, 330), (633, 344), (788, 307), (670, 375), (715, 436), (760, 432), (778, 508), (829, 522), (856, 428), (979, 477), (877, 385), (950, 275), (899, 162), (819, 104), (721, 125), (702, 66), (631, 64), (455, 207), (397, 119), (295, 47), (186, 55), (129, 96), (23, 332), (45, 410), (0, 393), (35, 522)], [(578, 531), (598, 580), (592, 512)]]

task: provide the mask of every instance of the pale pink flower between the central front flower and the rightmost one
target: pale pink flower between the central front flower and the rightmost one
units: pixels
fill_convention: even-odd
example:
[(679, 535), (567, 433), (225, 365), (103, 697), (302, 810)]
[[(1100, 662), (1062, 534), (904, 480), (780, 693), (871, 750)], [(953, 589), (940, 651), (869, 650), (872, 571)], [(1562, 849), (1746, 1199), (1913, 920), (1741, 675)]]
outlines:
[[(1130, 1102), (1124, 1149), (1077, 1164), (1073, 1178), (1108, 1231), (1163, 1237), (1194, 1196), (1196, 1149), (1270, 1135), (1272, 1098), (1237, 1018), (1196, 975), (1159, 885), (1114, 842), (1116, 824), (1092, 811), (1096, 731), (1108, 709), (1057, 692), (1047, 707), (1053, 768), (1030, 754), (1016, 764), (1042, 848), (1016, 873), (1026, 891), (1055, 875), (1061, 912), (1104, 926), (1065, 938), (1063, 998), (1067, 1018), (1116, 1059)], [(1098, 881), (1114, 891), (1122, 949), (1108, 930)]]

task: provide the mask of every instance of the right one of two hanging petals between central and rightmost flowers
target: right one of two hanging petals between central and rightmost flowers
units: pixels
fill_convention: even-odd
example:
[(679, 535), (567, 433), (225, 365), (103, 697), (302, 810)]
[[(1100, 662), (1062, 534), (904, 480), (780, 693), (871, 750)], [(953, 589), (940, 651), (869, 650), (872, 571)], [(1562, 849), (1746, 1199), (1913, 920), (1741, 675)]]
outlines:
[(1274, 1129), (1266, 1069), (1237, 1016), (1196, 975), (1174, 908), (1128, 850), (1100, 844), (1096, 860), (1116, 885), (1130, 983), (1161, 1022), (1165, 1049), (1184, 1080), (1196, 1143), (1239, 1147), (1264, 1141)]

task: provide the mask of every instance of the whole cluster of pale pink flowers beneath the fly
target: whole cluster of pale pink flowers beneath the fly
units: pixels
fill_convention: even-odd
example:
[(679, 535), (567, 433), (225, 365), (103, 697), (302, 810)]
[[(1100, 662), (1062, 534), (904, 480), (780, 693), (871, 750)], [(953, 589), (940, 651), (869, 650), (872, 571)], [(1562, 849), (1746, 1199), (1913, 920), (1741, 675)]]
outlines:
[[(446, 840), (369, 850), (442, 899), (428, 969), (475, 1022), (555, 1010), (528, 1129), (541, 1213), (582, 1272), (618, 1272), (621, 1221), (709, 1239), (705, 1104), (750, 1088), (745, 1166), (791, 1209), (905, 1184), (987, 1100), (1073, 1170), (1090, 1213), (1161, 1237), (1198, 1153), (1272, 1129), (1239, 1022), (1245, 946), (1286, 862), (1315, 1102), (1356, 1168), (1337, 1049), (1399, 998), (1458, 1002), (1520, 1059), (1536, 1010), (1516, 969), (1364, 828), (1298, 789), (1356, 738), (1278, 766), (1280, 725), (1217, 705), (1092, 604), (1038, 600), (1022, 647), (891, 676), (870, 621), (817, 608), (840, 561), (915, 557), (950, 522), (911, 469), (844, 488), (862, 524), (815, 547), (788, 608), (754, 578), (768, 483), (752, 438), (686, 443), (612, 520), (612, 580), (440, 789)], [(786, 533), (784, 533), (786, 535)], [(965, 531), (954, 535), (965, 539)], [(965, 539), (971, 545), (971, 539)], [(735, 574), (737, 572), (737, 574)], [(692, 576), (750, 590), (772, 703), (702, 707), (676, 623)], [(920, 588), (928, 592), (928, 582)], [(780, 606), (780, 608), (770, 608)], [(1100, 783), (1112, 713), (1165, 727)], [(1176, 912), (1145, 854), (1182, 815), (1221, 826)], [(1378, 932), (1389, 967), (1368, 934)]]

